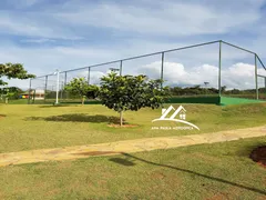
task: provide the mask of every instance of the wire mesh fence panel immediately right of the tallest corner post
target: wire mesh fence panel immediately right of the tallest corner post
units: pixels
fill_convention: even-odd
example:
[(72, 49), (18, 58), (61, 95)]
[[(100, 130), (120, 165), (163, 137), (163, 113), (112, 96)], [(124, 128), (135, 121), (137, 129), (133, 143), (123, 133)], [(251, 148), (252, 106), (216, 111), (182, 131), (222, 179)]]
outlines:
[(222, 43), (222, 96), (256, 99), (255, 54)]

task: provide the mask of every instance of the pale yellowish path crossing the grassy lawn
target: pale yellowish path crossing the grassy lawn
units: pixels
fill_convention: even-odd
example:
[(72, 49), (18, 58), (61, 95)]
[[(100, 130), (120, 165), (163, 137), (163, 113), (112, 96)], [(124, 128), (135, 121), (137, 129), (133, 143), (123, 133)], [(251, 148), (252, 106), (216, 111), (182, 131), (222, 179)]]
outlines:
[(244, 138), (255, 138), (263, 136), (266, 136), (266, 126), (221, 131), (215, 133), (144, 138), (110, 143), (10, 152), (0, 154), (0, 167), (10, 164), (45, 162), (51, 160), (70, 160), (88, 158), (92, 156), (111, 156), (120, 154), (122, 152), (131, 153), (140, 151), (151, 151), (155, 149), (170, 149), (184, 146), (233, 141)]

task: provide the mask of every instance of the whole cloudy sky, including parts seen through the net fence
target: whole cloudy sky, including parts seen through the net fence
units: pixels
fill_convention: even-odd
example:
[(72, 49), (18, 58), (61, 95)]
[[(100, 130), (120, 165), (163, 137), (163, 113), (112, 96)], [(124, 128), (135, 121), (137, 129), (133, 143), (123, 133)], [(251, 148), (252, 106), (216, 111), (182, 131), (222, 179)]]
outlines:
[[(0, 63), (23, 63), (30, 73), (43, 76), (215, 40), (247, 48), (266, 63), (265, 21), (266, 0), (1, 0)], [(222, 57), (222, 84), (255, 87), (253, 54), (223, 46)], [(217, 58), (216, 44), (165, 54), (164, 79), (167, 84), (217, 87)], [(160, 78), (161, 56), (123, 64), (123, 73)], [(91, 83), (110, 67), (119, 63), (93, 69)], [(262, 66), (258, 72), (266, 74)], [(88, 71), (66, 79), (76, 76)], [(55, 77), (49, 80), (53, 87)], [(25, 89), (29, 80), (9, 86)], [(43, 79), (32, 82), (43, 86)]]

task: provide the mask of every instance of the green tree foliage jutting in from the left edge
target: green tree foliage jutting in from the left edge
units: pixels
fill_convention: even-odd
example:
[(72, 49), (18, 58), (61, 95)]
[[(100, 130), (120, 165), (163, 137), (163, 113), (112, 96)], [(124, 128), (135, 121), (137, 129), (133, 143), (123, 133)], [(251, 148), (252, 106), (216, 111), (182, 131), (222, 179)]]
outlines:
[(1, 78), (7, 77), (8, 79), (29, 79), (34, 78), (34, 74), (28, 73), (21, 63), (0, 63), (0, 86), (8, 84)]

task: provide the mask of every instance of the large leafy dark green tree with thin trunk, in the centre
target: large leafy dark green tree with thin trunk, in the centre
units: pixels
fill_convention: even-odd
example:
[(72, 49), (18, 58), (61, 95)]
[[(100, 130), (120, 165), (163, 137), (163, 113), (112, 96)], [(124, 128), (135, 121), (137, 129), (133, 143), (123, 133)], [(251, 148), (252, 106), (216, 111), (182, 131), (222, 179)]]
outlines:
[(149, 80), (146, 76), (117, 76), (114, 72), (101, 78), (99, 97), (102, 104), (120, 113), (137, 111), (141, 108), (158, 108), (168, 96), (168, 88), (162, 87), (162, 80)]

